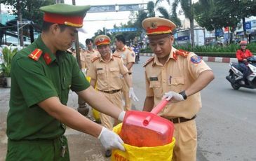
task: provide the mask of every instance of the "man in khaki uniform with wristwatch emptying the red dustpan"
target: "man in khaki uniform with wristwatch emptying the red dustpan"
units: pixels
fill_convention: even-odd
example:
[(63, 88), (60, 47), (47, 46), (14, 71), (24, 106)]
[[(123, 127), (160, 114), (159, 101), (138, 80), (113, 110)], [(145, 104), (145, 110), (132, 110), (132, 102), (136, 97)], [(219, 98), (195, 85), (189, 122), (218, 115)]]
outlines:
[(142, 27), (155, 54), (144, 65), (147, 94), (143, 110), (151, 111), (162, 98), (170, 100), (159, 114), (175, 125), (173, 160), (196, 161), (194, 118), (202, 106), (200, 91), (213, 80), (213, 71), (194, 52), (173, 48), (176, 26), (170, 20), (146, 18)]

